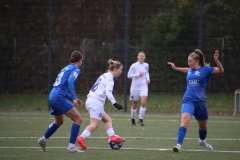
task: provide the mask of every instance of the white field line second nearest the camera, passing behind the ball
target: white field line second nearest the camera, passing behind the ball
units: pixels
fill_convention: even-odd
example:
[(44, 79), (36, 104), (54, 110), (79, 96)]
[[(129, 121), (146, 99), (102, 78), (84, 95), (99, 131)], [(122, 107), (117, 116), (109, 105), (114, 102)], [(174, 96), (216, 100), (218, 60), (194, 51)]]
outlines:
[[(38, 139), (39, 137), (0, 137), (0, 139)], [(108, 137), (89, 137), (93, 139), (107, 139)], [(125, 139), (163, 139), (163, 140), (176, 140), (176, 138), (166, 137), (124, 137)], [(69, 139), (69, 137), (51, 137), (51, 139)], [(198, 138), (184, 138), (188, 140), (198, 140)], [(240, 139), (220, 139), (220, 138), (208, 138), (211, 141), (240, 141)]]

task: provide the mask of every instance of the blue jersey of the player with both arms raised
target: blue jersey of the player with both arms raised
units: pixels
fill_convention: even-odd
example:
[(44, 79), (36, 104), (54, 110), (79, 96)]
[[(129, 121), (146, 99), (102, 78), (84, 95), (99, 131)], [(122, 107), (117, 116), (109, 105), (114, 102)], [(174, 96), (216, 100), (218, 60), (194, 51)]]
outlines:
[(213, 75), (214, 67), (204, 66), (199, 69), (188, 69), (187, 89), (183, 96), (183, 102), (205, 102), (206, 87)]

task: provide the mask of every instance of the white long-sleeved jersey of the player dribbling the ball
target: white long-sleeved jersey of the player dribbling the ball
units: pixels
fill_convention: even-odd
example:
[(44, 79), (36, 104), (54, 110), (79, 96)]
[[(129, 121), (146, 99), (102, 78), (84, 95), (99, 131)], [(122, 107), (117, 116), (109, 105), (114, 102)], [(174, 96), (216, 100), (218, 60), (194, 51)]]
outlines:
[(116, 100), (112, 94), (114, 87), (113, 78), (114, 76), (111, 72), (102, 74), (89, 91), (87, 97), (94, 97), (103, 102), (105, 102), (106, 97), (108, 97), (109, 101), (111, 101), (112, 104), (116, 103)]

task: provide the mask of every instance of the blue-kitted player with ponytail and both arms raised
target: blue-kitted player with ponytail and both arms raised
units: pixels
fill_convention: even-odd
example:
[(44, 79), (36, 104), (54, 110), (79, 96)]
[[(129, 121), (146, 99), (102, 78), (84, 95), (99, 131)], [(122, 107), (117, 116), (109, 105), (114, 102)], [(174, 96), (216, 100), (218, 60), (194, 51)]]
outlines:
[(188, 56), (189, 68), (176, 67), (174, 63), (167, 62), (173, 70), (187, 74), (187, 89), (182, 99), (181, 125), (178, 130), (177, 145), (172, 148), (174, 152), (180, 152), (190, 119), (193, 115), (199, 125), (198, 143), (207, 150), (211, 151), (213, 149), (213, 147), (206, 142), (208, 120), (206, 87), (212, 75), (224, 72), (218, 57), (219, 51), (216, 50), (214, 59), (217, 67), (209, 67), (205, 64), (203, 53), (199, 49), (196, 49)]

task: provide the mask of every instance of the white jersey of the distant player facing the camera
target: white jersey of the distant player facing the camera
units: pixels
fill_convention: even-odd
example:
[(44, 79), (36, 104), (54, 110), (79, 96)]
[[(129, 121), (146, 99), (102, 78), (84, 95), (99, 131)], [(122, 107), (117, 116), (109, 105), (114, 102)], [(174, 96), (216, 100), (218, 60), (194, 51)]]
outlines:
[[(140, 72), (143, 73), (142, 77), (139, 76)], [(148, 63), (133, 63), (128, 71), (128, 78), (132, 78), (131, 90), (147, 88), (147, 80), (150, 80)]]

